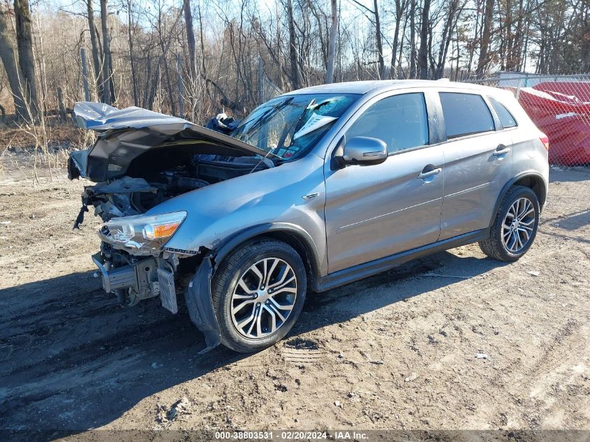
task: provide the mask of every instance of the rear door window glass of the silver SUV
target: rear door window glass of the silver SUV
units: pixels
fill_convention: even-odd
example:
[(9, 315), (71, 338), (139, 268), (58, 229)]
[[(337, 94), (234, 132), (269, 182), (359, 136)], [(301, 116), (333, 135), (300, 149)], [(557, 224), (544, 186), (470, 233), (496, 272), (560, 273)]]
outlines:
[(447, 138), (494, 130), (494, 119), (482, 96), (457, 92), (439, 92)]

